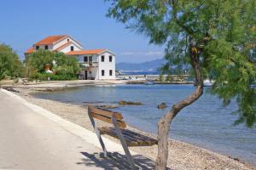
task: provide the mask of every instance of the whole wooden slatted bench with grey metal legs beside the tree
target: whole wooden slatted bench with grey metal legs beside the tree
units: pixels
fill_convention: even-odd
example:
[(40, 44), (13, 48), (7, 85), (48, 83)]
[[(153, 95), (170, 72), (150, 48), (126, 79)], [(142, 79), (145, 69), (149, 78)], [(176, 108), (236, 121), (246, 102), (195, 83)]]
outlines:
[[(125, 150), (125, 156), (133, 169), (136, 169), (137, 167), (135, 166), (128, 147), (151, 146), (158, 143), (156, 139), (125, 129), (126, 123), (123, 121), (123, 116), (119, 112), (88, 106), (88, 116), (90, 117), (90, 122), (95, 129), (100, 144), (102, 145), (104, 156), (108, 156), (108, 152), (105, 144), (103, 143), (101, 134), (108, 134), (109, 136), (120, 140), (123, 149)], [(97, 127), (94, 118), (103, 122), (111, 123), (113, 124), (113, 127)]]

